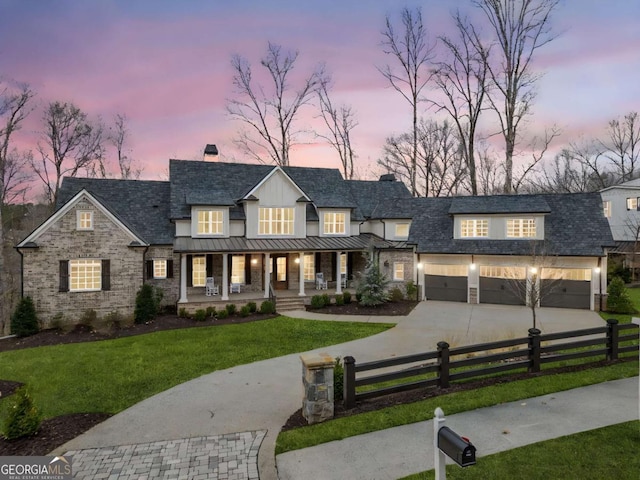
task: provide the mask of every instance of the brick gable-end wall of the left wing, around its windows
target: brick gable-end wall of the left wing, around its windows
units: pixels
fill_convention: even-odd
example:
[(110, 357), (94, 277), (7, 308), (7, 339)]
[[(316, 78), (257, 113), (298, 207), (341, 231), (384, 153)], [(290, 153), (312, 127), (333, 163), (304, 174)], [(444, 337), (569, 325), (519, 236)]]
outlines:
[[(94, 229), (76, 229), (76, 210), (94, 212)], [(133, 315), (135, 295), (143, 281), (144, 247), (129, 247), (131, 237), (88, 202), (79, 202), (38, 239), (38, 248), (23, 253), (23, 291), (35, 304), (43, 328), (52, 320), (77, 323), (88, 310), (98, 317), (112, 312)], [(60, 260), (109, 259), (111, 290), (60, 292)]]

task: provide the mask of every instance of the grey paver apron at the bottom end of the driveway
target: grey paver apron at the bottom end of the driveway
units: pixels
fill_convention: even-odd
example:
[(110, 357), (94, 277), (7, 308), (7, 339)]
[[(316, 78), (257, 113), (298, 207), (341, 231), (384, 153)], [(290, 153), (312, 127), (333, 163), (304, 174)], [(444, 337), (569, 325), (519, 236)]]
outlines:
[(71, 450), (77, 479), (259, 480), (267, 432), (231, 433), (111, 448)]

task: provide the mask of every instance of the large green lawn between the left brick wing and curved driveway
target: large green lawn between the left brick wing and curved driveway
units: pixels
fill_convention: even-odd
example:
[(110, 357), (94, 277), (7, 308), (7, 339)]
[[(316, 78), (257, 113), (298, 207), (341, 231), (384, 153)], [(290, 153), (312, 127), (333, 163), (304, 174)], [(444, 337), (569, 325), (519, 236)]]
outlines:
[(380, 333), (393, 325), (277, 317), (0, 353), (0, 378), (28, 385), (45, 417), (117, 413), (215, 370)]

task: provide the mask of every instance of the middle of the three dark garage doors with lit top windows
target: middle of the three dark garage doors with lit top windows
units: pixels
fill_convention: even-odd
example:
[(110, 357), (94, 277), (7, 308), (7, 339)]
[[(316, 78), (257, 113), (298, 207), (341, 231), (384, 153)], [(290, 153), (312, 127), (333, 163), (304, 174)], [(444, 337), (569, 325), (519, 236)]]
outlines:
[(524, 267), (480, 267), (480, 303), (524, 305), (526, 298)]

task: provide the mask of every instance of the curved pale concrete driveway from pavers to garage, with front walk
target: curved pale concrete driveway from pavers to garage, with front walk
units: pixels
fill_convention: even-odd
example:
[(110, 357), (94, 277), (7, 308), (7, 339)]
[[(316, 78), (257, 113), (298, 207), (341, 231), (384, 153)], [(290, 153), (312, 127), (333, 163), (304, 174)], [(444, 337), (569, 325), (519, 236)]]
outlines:
[[(546, 308), (537, 312), (538, 328), (545, 333), (603, 324), (594, 312)], [(289, 316), (397, 323), (384, 333), (316, 350), (351, 355), (360, 362), (433, 350), (441, 340), (455, 346), (526, 336), (532, 326), (531, 311), (525, 307), (433, 301), (420, 303), (407, 317), (354, 319), (308, 312)], [(183, 383), (114, 415), (54, 453), (266, 432), (258, 455), (260, 478), (277, 479), (275, 441), (281, 426), (302, 404), (299, 355), (216, 371)]]

